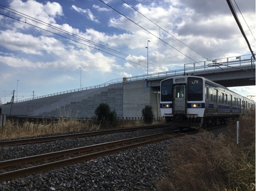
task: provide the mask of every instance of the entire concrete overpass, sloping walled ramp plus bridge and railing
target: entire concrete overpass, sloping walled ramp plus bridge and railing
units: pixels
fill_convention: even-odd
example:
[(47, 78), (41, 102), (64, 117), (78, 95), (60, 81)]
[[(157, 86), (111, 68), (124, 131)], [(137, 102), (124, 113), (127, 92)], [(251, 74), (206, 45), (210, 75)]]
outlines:
[[(112, 81), (108, 84), (58, 92), (18, 103), (1, 106), (2, 115), (33, 117), (93, 117), (100, 103), (107, 103), (119, 117), (142, 117), (145, 105), (160, 112), (160, 82), (177, 75), (196, 75), (208, 78), (226, 87), (255, 85), (255, 61), (208, 60), (184, 64), (184, 69), (141, 75)], [(239, 59), (239, 60), (238, 60)], [(210, 63), (210, 64), (208, 64)]]

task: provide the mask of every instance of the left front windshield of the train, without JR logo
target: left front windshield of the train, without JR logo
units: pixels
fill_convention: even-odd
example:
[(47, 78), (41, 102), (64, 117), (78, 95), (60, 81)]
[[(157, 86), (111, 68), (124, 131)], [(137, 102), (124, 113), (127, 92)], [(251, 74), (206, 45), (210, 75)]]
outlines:
[(171, 102), (172, 101), (172, 84), (173, 80), (168, 79), (161, 83), (161, 101)]

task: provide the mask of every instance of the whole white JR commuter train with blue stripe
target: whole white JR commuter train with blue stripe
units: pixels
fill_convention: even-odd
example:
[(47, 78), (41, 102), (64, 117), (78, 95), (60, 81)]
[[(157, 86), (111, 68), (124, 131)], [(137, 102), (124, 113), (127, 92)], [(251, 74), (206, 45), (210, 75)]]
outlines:
[(255, 110), (255, 102), (199, 76), (177, 76), (161, 81), (161, 114), (165, 125), (208, 127)]

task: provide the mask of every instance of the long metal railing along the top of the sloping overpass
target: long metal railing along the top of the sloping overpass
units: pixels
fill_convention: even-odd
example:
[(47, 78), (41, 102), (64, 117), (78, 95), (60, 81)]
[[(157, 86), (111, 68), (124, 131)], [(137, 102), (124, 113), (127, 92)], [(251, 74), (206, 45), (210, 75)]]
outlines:
[[(153, 73), (153, 74), (144, 74), (144, 75), (126, 77), (126, 78), (117, 78), (117, 79), (107, 81), (101, 85), (94, 85), (94, 86), (85, 87), (85, 88), (72, 89), (64, 92), (57, 92), (57, 93), (48, 94), (44, 96), (37, 96), (30, 99), (19, 100), (18, 102), (15, 102), (15, 103), (26, 102), (29, 100), (46, 98), (51, 96), (57, 96), (61, 94), (71, 93), (71, 92), (78, 92), (78, 91), (83, 91), (87, 89), (106, 87), (111, 84), (121, 83), (124, 81), (137, 81), (137, 80), (145, 80), (150, 78), (168, 77), (172, 75), (183, 74), (184, 72), (188, 73), (188, 72), (195, 72), (195, 71), (216, 70), (219, 68), (227, 68), (227, 67), (249, 66), (251, 65), (251, 59), (249, 59), (250, 56), (251, 55), (248, 54), (248, 55), (237, 56), (237, 57), (228, 57), (228, 58), (220, 58), (216, 60), (207, 60), (207, 61), (202, 61), (197, 63), (188, 63), (188, 64), (184, 64), (184, 69), (179, 69), (174, 71), (164, 71), (164, 72)], [(244, 58), (244, 60), (242, 60), (242, 58)], [(216, 65), (208, 66), (208, 64), (216, 64)], [(253, 60), (252, 64), (255, 65), (255, 60)]]

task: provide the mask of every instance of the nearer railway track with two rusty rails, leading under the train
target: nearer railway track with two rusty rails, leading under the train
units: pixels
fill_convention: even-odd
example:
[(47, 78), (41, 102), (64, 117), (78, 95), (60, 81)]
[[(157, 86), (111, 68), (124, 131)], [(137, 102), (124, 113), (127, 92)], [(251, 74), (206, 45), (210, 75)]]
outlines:
[[(216, 128), (220, 128), (220, 127), (212, 127), (208, 129), (208, 131)], [(197, 132), (198, 131), (192, 131), (192, 132), (188, 132), (187, 134), (196, 134)], [(168, 136), (170, 134), (173, 134), (173, 135)], [(176, 130), (176, 131), (169, 131), (169, 132), (160, 133), (160, 134), (152, 134), (152, 135), (146, 135), (142, 137), (129, 138), (129, 139), (124, 139), (120, 141), (112, 141), (112, 142), (102, 143), (98, 145), (85, 146), (85, 147), (76, 148), (76, 149), (46, 153), (46, 154), (37, 155), (37, 156), (29, 156), (29, 157), (24, 157), (19, 159), (1, 161), (0, 168), (8, 168), (11, 166), (22, 165), (24, 163), (33, 163), (33, 162), (41, 161), (45, 159), (58, 158), (62, 156), (70, 156), (73, 154), (80, 153), (80, 156), (75, 156), (73, 158), (59, 159), (58, 161), (51, 162), (51, 163), (40, 164), (37, 166), (27, 167), (27, 168), (18, 169), (18, 170), (12, 170), (6, 173), (0, 173), (0, 182), (3, 182), (11, 178), (24, 177), (32, 173), (40, 173), (42, 171), (51, 170), (53, 168), (59, 168), (61, 166), (67, 166), (73, 163), (81, 163), (87, 160), (96, 159), (100, 156), (111, 155), (117, 152), (124, 151), (126, 149), (134, 149), (139, 146), (150, 145), (150, 144), (165, 141), (171, 138), (182, 137), (184, 135), (185, 134), (179, 134), (179, 130)], [(128, 144), (128, 145), (123, 146), (124, 144)], [(113, 147), (113, 146), (114, 148), (107, 148), (107, 147)], [(102, 150), (103, 148), (105, 149), (107, 148), (107, 149)], [(99, 149), (100, 151), (96, 151), (96, 149)], [(88, 152), (91, 150), (93, 150), (93, 153), (84, 154), (84, 152)]]

